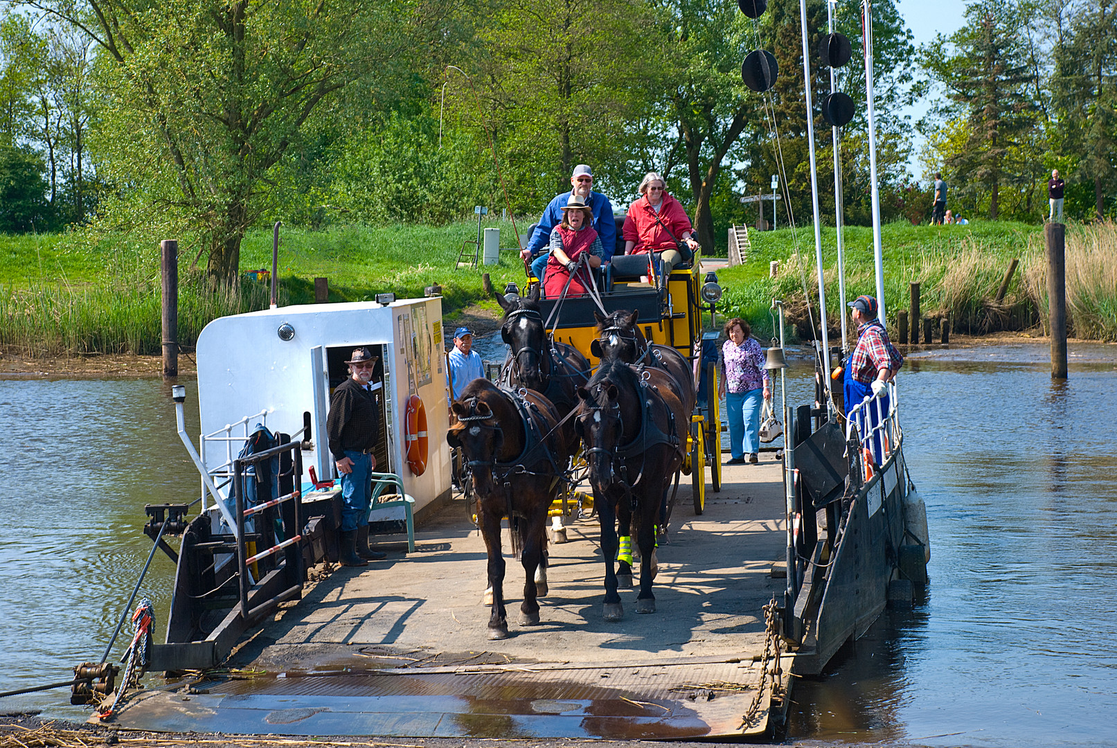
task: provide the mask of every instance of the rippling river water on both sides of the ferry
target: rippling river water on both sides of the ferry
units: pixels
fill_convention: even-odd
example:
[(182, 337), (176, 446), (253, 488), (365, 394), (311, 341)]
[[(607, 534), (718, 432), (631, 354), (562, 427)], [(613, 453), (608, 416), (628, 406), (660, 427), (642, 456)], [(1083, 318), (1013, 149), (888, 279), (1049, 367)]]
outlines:
[[(1071, 354), (1065, 383), (1041, 345), (909, 356), (905, 455), (927, 502), (928, 593), (796, 680), (789, 742), (1117, 744), (1117, 347)], [(798, 362), (793, 404), (813, 395)], [(99, 660), (151, 548), (143, 505), (199, 490), (159, 380), (0, 380), (0, 443), (6, 691)], [(157, 553), (141, 588), (160, 637), (172, 574)], [(0, 699), (19, 709), (88, 715), (63, 689)]]

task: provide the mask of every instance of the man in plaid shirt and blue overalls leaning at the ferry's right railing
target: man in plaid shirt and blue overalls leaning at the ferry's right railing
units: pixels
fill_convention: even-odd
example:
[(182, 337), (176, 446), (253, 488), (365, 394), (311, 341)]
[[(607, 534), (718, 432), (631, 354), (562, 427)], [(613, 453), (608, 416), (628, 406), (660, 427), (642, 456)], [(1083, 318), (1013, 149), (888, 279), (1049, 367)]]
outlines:
[[(846, 395), (846, 414), (848, 416), (849, 412), (860, 405), (866, 397), (879, 397), (879, 412), (887, 414), (889, 407), (887, 384), (904, 365), (904, 356), (888, 339), (888, 332), (877, 318), (877, 299), (871, 296), (858, 296), (856, 300), (849, 303), (849, 306), (853, 324), (857, 325), (857, 347), (853, 348), (853, 355), (850, 356), (849, 365), (846, 367), (842, 387)], [(876, 403), (867, 410), (868, 426), (876, 426), (879, 423)], [(872, 452), (878, 464), (884, 462), (879, 438), (873, 439)]]

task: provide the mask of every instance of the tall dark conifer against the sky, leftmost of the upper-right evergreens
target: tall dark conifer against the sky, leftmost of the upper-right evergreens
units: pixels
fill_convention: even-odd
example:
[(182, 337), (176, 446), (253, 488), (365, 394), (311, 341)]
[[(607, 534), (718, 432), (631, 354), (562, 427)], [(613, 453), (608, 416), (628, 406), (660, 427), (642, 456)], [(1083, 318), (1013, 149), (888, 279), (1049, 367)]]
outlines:
[(1031, 137), (1037, 126), (1029, 90), (1035, 76), (1027, 63), (1028, 35), (1019, 6), (976, 0), (966, 8), (966, 20), (949, 38), (939, 35), (923, 50), (923, 65), (945, 86), (953, 103), (948, 112), (964, 113), (970, 127), (965, 147), (945, 162), (957, 180), (989, 191), (989, 215), (995, 220), (1002, 184), (1020, 178), (1008, 169), (1010, 150)]

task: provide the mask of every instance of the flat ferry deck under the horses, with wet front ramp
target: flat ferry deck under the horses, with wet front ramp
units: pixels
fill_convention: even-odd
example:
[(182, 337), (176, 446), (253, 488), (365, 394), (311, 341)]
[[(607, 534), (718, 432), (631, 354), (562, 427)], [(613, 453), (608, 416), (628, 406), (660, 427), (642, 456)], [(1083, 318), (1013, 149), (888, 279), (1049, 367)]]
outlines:
[[(682, 477), (658, 552), (657, 613), (622, 589), (602, 621), (595, 517), (551, 545), (542, 623), (517, 626), (523, 567), (507, 560), (512, 636), (489, 641), (486, 554), (460, 497), (417, 528), (416, 553), (340, 568), (241, 643), (231, 675), (128, 699), (125, 729), (232, 735), (764, 740), (785, 713), (790, 655), (763, 607), (781, 601), (781, 464), (726, 467), (696, 516)], [(507, 540), (507, 535), (505, 536)]]

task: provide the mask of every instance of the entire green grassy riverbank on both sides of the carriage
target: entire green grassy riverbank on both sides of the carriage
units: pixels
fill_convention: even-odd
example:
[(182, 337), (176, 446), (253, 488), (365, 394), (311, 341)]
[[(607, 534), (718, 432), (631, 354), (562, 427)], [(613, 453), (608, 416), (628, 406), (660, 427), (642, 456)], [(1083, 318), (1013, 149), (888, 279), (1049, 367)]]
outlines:
[[(502, 244), (510, 247), (510, 222), (497, 222)], [(527, 230), (521, 223), (519, 231)], [(486, 299), (481, 274), (493, 285), (523, 285), (524, 270), (514, 251), (500, 263), (456, 269), (461, 242), (475, 239), (477, 224), (349, 227), (330, 231), (283, 229), (279, 250), (280, 304), (314, 300), (314, 278), (330, 280), (331, 301), (371, 299), (393, 291), (400, 298), (422, 296), (442, 286), (443, 309), (454, 314)], [(839, 329), (837, 242), (823, 230), (827, 307), (831, 328)], [(796, 241), (798, 240), (798, 241)], [(767, 313), (773, 297), (787, 305), (793, 325), (809, 334), (803, 279), (812, 295), (814, 237), (808, 227), (798, 238), (789, 229), (753, 232), (745, 265), (719, 272), (726, 288), (722, 309), (771, 335)], [(795, 253), (795, 248), (799, 253)], [(211, 294), (191, 260), (197, 248), (180, 250), (180, 339), (192, 345), (214, 317), (264, 308), (268, 289), (245, 281), (241, 293)], [(846, 231), (847, 297), (872, 293), (872, 234)], [(908, 284), (918, 281), (924, 314), (949, 310), (956, 332), (985, 333), (1033, 326), (1047, 314), (1042, 231), (1020, 223), (977, 222), (967, 227), (889, 224), (884, 230), (885, 299), (889, 319), (907, 308)], [(993, 296), (1012, 258), (1021, 267), (1005, 297)], [(768, 278), (768, 263), (780, 274)], [(242, 270), (270, 268), (271, 232), (250, 232), (241, 251)], [(1071, 329), (1078, 337), (1117, 341), (1117, 229), (1111, 226), (1068, 229), (1067, 281)], [(31, 354), (139, 353), (160, 351), (160, 278), (156, 242), (136, 242), (83, 233), (0, 237), (0, 345)]]

